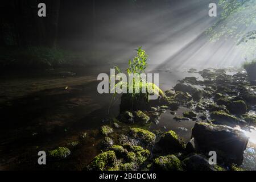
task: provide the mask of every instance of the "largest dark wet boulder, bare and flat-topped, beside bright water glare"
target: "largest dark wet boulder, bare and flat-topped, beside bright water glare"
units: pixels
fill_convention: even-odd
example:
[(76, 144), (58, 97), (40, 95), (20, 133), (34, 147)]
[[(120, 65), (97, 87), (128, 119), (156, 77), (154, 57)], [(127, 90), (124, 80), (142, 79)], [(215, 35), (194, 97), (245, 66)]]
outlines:
[(217, 160), (222, 159), (227, 164), (242, 164), (243, 151), (248, 143), (248, 137), (242, 131), (229, 126), (196, 122), (192, 129), (192, 136), (200, 151), (207, 154), (209, 151), (216, 151)]

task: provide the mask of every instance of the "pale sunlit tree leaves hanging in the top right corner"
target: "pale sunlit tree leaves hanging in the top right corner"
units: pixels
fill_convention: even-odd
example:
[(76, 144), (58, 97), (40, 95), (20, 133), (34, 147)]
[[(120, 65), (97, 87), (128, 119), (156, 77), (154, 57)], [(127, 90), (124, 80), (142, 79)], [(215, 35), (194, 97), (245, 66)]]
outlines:
[(210, 41), (232, 38), (242, 50), (242, 56), (246, 60), (253, 59), (256, 39), (255, 31), (251, 31), (251, 28), (256, 24), (256, 2), (254, 0), (219, 0), (218, 5), (223, 11), (220, 20), (206, 31)]

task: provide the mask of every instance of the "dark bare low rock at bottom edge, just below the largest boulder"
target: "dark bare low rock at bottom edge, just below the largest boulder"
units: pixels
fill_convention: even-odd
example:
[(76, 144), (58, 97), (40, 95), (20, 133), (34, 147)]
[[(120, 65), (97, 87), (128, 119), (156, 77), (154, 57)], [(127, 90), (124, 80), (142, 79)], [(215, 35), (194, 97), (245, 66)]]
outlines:
[(222, 171), (217, 165), (211, 166), (208, 159), (200, 154), (193, 154), (183, 160), (187, 171)]

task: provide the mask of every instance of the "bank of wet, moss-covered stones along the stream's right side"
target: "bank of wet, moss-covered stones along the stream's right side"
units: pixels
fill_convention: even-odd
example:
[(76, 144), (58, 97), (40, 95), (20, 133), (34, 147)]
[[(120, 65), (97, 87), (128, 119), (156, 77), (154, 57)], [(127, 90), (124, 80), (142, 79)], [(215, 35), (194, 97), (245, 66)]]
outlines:
[[(85, 170), (241, 170), (249, 138), (235, 127), (253, 130), (256, 126), (256, 86), (246, 73), (229, 75), (226, 69), (204, 69), (199, 74), (203, 79), (185, 77), (167, 90), (168, 100), (159, 98), (147, 105), (134, 101), (135, 107), (125, 110), (131, 108), (129, 95), (122, 96), (117, 118), (106, 119), (96, 133), (84, 134), (73, 146), (69, 143), (51, 151), (52, 157), (64, 159), (77, 144), (94, 135), (102, 138), (98, 144), (102, 153)], [(179, 107), (188, 111), (177, 115)], [(148, 130), (168, 110), (176, 121), (196, 121), (188, 143), (172, 130)], [(216, 165), (208, 162), (210, 151), (217, 153)]]

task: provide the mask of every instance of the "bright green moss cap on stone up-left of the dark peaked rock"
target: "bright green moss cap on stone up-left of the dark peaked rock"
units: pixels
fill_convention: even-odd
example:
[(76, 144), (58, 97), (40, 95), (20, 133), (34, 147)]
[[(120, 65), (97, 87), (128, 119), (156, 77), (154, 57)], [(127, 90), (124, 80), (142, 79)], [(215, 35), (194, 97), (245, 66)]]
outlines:
[(152, 144), (155, 142), (155, 134), (150, 131), (139, 128), (131, 128), (130, 130), (133, 137), (141, 139), (145, 144)]

